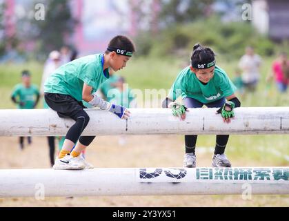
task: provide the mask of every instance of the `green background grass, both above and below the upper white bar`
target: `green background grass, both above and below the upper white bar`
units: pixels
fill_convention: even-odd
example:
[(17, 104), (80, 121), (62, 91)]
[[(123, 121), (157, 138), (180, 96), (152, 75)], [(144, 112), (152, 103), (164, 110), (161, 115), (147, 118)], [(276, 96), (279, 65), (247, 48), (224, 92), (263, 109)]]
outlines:
[[(233, 78), (238, 61), (225, 61), (218, 58), (218, 65)], [(126, 77), (130, 88), (138, 88), (142, 92), (146, 89), (168, 90), (179, 71), (188, 62), (178, 59), (132, 58), (127, 68), (119, 73)], [(288, 93), (280, 95), (272, 84), (266, 84), (266, 76), (270, 71), (272, 58), (263, 59), (261, 81), (257, 91), (253, 94), (240, 97), (242, 106), (288, 106)], [(10, 93), (15, 84), (21, 81), (20, 73), (23, 69), (32, 72), (32, 82), (39, 85), (43, 64), (31, 62), (28, 64), (1, 64), (0, 65), (0, 108), (15, 108), (10, 101)], [(38, 108), (41, 108), (39, 104)], [(183, 139), (181, 136), (180, 139)], [(197, 146), (215, 146), (214, 135), (200, 135)], [(227, 153), (232, 160), (252, 160), (260, 164), (272, 166), (288, 166), (289, 162), (283, 156), (270, 153), (271, 150), (289, 155), (288, 135), (232, 135), (228, 143)]]

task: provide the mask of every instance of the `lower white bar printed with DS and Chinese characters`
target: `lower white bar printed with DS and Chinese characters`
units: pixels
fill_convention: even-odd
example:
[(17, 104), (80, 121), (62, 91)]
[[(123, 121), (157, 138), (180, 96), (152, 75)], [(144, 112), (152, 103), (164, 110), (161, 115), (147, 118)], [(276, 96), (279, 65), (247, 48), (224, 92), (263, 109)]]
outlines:
[(0, 170), (0, 198), (289, 194), (289, 167)]

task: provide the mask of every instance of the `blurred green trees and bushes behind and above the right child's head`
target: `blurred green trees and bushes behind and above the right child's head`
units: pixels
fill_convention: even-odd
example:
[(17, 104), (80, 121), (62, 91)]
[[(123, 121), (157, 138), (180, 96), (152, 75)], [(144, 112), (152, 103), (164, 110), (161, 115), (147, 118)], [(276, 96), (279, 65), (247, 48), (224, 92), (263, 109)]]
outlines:
[[(260, 55), (270, 56), (277, 47), (260, 35), (250, 22), (241, 19), (241, 6), (250, 0), (159, 0), (159, 33), (139, 32), (135, 41), (139, 55), (188, 58), (194, 44), (212, 47), (219, 55), (236, 59), (244, 48), (253, 46)], [(217, 10), (217, 5), (221, 10)], [(235, 10), (235, 19), (223, 20)], [(234, 14), (234, 13), (233, 13)]]

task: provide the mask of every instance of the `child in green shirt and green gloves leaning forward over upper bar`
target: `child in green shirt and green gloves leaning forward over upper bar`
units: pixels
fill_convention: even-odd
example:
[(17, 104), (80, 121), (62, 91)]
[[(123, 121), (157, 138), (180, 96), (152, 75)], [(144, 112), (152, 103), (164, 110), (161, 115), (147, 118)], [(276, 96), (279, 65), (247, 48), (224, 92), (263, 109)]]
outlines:
[[(234, 108), (241, 106), (235, 95), (237, 89), (226, 72), (215, 65), (215, 53), (207, 47), (196, 44), (192, 51), (191, 65), (181, 70), (172, 84), (168, 97), (163, 101), (163, 108), (172, 108), (172, 114), (186, 118), (188, 108), (219, 108), (223, 122), (230, 123), (234, 117)], [(183, 104), (175, 102), (182, 97)], [(212, 166), (230, 167), (225, 155), (229, 135), (217, 135)], [(196, 167), (195, 147), (197, 135), (185, 135), (186, 153), (184, 167)]]

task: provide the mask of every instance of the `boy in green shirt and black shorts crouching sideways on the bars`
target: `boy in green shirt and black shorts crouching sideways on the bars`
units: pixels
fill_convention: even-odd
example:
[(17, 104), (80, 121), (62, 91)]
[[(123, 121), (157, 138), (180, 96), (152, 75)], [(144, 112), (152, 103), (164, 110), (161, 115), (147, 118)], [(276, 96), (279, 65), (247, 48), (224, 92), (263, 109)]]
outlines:
[(81, 152), (95, 137), (81, 136), (90, 120), (86, 111), (83, 111), (86, 106), (82, 100), (94, 107), (110, 111), (121, 119), (128, 119), (130, 111), (127, 108), (101, 99), (97, 95), (97, 89), (103, 81), (110, 78), (110, 68), (117, 71), (126, 67), (134, 51), (134, 44), (128, 37), (117, 35), (110, 40), (103, 54), (88, 55), (70, 61), (48, 77), (44, 84), (46, 103), (52, 110), (57, 111), (59, 117), (70, 117), (75, 121), (66, 133), (53, 169), (93, 168), (81, 157)]

